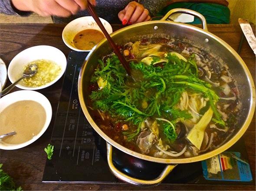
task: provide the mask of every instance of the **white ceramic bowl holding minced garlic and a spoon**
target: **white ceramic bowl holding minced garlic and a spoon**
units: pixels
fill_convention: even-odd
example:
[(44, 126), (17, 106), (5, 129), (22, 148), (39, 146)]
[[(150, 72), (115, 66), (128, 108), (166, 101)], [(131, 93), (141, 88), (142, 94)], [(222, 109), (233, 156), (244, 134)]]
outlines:
[(21, 51), (19, 54), (17, 54), (13, 58), (13, 60), (11, 60), (8, 67), (8, 77), (11, 83), (15, 82), (22, 76), (24, 67), (29, 62), (33, 60), (39, 60), (39, 59), (52, 60), (56, 64), (58, 64), (61, 67), (61, 72), (59, 73), (59, 76), (57, 76), (55, 80), (53, 80), (50, 83), (47, 83), (44, 86), (27, 87), (23, 84), (21, 80), (16, 85), (16, 87), (20, 89), (36, 90), (36, 89), (43, 89), (43, 88), (49, 87), (54, 83), (56, 83), (66, 70), (67, 60), (66, 60), (66, 56), (62, 53), (62, 51), (60, 51), (58, 48), (55, 48), (53, 46), (47, 46), (47, 45), (33, 46), (30, 48), (27, 48), (24, 51)]

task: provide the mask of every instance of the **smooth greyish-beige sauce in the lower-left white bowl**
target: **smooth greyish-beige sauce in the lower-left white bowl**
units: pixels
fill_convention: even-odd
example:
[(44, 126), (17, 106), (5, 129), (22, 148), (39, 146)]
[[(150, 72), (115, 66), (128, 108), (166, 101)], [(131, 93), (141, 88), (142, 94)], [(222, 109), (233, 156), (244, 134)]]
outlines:
[(0, 113), (0, 135), (16, 131), (16, 135), (3, 138), (9, 144), (20, 144), (39, 134), (46, 122), (46, 111), (31, 100), (15, 102)]

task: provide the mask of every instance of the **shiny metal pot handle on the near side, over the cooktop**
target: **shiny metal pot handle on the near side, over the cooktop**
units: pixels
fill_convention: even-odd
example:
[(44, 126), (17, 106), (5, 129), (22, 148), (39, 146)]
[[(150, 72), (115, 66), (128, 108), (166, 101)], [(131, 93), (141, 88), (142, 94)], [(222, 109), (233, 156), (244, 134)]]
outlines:
[(164, 178), (174, 169), (177, 164), (174, 165), (167, 165), (163, 172), (155, 178), (154, 180), (141, 180), (137, 178), (130, 177), (128, 175), (125, 175), (124, 173), (120, 172), (117, 168), (115, 168), (112, 160), (112, 145), (107, 143), (107, 159), (108, 159), (108, 166), (111, 170), (111, 172), (120, 180), (125, 181), (127, 183), (137, 185), (137, 186), (152, 186), (152, 185), (158, 185), (161, 183), (161, 181), (164, 180)]

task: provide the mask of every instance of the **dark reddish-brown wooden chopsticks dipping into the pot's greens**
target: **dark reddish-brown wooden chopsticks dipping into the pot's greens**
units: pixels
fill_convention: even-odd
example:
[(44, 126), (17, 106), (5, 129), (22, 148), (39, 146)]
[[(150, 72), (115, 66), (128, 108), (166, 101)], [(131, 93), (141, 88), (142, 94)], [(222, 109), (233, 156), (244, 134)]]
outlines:
[(95, 22), (98, 24), (99, 28), (102, 30), (103, 34), (105, 35), (105, 37), (108, 39), (109, 44), (112, 46), (112, 48), (115, 51), (115, 54), (117, 55), (117, 57), (119, 58), (120, 62), (123, 64), (126, 72), (128, 73), (128, 75), (131, 75), (131, 68), (130, 65), (128, 64), (128, 62), (125, 60), (125, 57), (121, 54), (121, 52), (119, 51), (117, 45), (115, 45), (115, 42), (112, 40), (112, 38), (110, 37), (110, 35), (108, 34), (108, 32), (106, 31), (105, 27), (102, 25), (102, 22), (100, 21), (100, 19), (98, 18), (97, 13), (95, 12), (93, 6), (91, 5), (91, 3), (88, 3), (88, 8), (87, 8), (88, 12), (90, 13), (90, 15), (93, 17), (93, 19), (95, 20)]

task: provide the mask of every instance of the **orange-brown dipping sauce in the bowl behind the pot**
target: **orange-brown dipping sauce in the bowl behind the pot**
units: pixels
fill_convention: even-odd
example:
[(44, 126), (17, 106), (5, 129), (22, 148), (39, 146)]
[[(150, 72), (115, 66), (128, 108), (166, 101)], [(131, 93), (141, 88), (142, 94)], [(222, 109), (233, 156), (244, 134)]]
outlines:
[(75, 35), (73, 45), (79, 50), (91, 50), (104, 38), (102, 32), (95, 29), (85, 29)]

